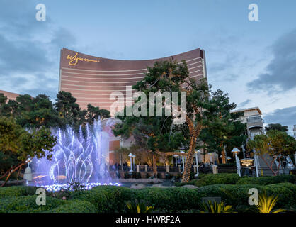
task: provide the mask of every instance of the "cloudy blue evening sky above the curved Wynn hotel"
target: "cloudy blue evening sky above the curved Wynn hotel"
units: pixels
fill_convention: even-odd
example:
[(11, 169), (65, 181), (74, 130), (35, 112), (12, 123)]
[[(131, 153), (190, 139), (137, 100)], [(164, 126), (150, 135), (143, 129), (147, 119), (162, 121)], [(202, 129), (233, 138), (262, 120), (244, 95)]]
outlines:
[[(46, 21), (36, 21), (37, 4)], [(249, 21), (249, 4), (259, 21)], [(296, 124), (296, 1), (0, 0), (0, 89), (55, 99), (59, 51), (144, 60), (195, 48), (213, 89), (265, 123)]]

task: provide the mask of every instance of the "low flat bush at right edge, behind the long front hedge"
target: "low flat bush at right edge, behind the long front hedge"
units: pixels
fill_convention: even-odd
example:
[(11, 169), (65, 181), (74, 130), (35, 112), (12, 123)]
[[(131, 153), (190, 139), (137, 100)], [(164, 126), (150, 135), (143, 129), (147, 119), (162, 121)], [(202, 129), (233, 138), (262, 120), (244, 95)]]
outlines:
[(273, 177), (241, 177), (237, 181), (237, 184), (259, 184), (259, 185), (268, 185), (268, 184), (278, 184), (283, 182), (290, 182), (295, 184), (295, 176), (293, 175), (279, 175)]

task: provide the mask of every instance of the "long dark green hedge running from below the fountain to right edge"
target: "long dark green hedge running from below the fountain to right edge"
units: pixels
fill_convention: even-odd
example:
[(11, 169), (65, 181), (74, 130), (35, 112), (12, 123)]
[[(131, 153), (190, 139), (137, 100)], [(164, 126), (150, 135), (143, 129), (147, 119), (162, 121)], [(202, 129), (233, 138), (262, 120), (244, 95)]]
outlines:
[(256, 188), (259, 192), (278, 195), (278, 207), (296, 206), (296, 185), (291, 183), (271, 184), (261, 186), (256, 184), (215, 184), (198, 189), (182, 187), (175, 188), (145, 188), (127, 189), (124, 187), (96, 187), (88, 192), (73, 196), (75, 199), (89, 201), (96, 206), (97, 212), (120, 212), (125, 209), (125, 201), (144, 200), (156, 210), (170, 212), (184, 209), (198, 209), (202, 197), (219, 196), (227, 204), (249, 206), (249, 189)]

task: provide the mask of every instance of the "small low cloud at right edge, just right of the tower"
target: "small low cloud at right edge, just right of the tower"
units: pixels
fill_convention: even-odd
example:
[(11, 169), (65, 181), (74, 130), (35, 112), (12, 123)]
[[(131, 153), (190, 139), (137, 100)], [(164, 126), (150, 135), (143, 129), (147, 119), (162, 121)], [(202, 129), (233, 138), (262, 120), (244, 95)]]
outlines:
[(271, 114), (266, 114), (264, 123), (280, 123), (284, 126), (292, 128), (296, 124), (296, 106), (291, 106), (283, 109), (276, 109)]

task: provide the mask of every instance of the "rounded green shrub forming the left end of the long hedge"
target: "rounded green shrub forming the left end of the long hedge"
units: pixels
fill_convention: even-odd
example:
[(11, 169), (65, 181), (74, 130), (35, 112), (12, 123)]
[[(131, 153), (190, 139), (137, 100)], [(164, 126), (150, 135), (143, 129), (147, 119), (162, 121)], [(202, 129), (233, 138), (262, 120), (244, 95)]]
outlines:
[(89, 191), (72, 193), (70, 199), (89, 201), (98, 213), (120, 212), (125, 208), (125, 201), (132, 199), (132, 189), (99, 186)]

